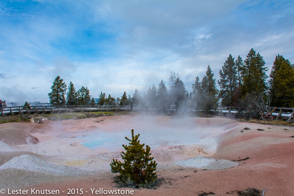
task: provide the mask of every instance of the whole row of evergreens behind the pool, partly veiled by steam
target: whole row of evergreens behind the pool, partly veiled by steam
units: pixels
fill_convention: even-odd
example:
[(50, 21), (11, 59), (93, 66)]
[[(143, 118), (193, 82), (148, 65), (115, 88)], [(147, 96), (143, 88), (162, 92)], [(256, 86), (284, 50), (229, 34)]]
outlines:
[(224, 106), (236, 106), (246, 96), (262, 93), (268, 106), (294, 107), (294, 65), (278, 54), (270, 76), (267, 76), (266, 71), (268, 67), (265, 67), (263, 57), (251, 48), (245, 60), (240, 56), (236, 60), (231, 54), (228, 56), (219, 71), (219, 90), (214, 73), (208, 65), (206, 75), (201, 81), (196, 77), (190, 93), (186, 90), (181, 75), (171, 71), (168, 87), (161, 80), (158, 87), (153, 84), (143, 96), (137, 89), (133, 96), (127, 96), (124, 92), (117, 98), (110, 94), (107, 97), (101, 92), (95, 101), (87, 87), (82, 86), (76, 91), (70, 82), (67, 88), (60, 76), (55, 78), (48, 96), (51, 105), (141, 105), (163, 111), (173, 105), (177, 110), (190, 107), (209, 113), (218, 107), (219, 101)]

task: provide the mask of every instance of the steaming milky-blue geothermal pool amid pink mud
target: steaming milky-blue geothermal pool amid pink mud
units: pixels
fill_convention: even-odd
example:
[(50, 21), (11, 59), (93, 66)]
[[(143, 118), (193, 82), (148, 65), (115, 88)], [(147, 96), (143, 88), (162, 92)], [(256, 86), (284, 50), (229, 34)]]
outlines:
[(131, 139), (131, 129), (134, 134), (140, 134), (140, 143), (145, 143), (151, 148), (161, 145), (191, 145), (205, 143), (218, 133), (227, 131), (217, 122), (201, 118), (171, 118), (169, 116), (130, 116), (119, 118), (116, 121), (97, 121), (97, 129), (85, 130), (78, 133), (59, 135), (68, 143), (79, 142), (84, 146), (109, 151), (123, 150), (122, 144), (128, 145)]

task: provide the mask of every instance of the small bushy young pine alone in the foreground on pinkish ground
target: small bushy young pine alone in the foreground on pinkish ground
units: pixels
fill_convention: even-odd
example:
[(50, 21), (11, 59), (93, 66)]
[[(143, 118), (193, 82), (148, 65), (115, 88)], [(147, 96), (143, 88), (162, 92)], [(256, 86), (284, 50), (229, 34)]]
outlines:
[(126, 140), (130, 141), (129, 145), (123, 144), (126, 152), (122, 152), (121, 157), (124, 162), (113, 159), (110, 164), (111, 172), (119, 173), (115, 177), (115, 182), (120, 186), (151, 187), (156, 182), (157, 163), (153, 161), (154, 157), (150, 156), (150, 147), (146, 145), (146, 149), (144, 149), (145, 144), (140, 144), (139, 135), (134, 136), (132, 129), (132, 139), (125, 137)]

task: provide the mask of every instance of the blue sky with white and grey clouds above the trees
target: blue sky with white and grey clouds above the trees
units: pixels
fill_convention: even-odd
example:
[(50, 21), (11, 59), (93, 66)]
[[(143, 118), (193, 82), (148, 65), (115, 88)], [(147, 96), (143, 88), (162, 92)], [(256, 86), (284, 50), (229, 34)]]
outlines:
[(56, 76), (94, 98), (143, 95), (171, 71), (190, 92), (251, 48), (269, 75), (278, 54), (294, 63), (293, 43), (294, 1), (1, 0), (0, 98), (49, 100)]

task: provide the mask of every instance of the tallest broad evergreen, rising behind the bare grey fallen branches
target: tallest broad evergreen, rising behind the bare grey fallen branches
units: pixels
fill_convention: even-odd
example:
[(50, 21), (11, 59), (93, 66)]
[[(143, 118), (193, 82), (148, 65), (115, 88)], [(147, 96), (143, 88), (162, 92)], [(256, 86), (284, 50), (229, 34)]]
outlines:
[(266, 90), (266, 71), (268, 67), (265, 66), (263, 57), (253, 50), (249, 51), (247, 58), (244, 60), (245, 65), (242, 67), (242, 95), (245, 96), (247, 93), (257, 92), (262, 93)]

